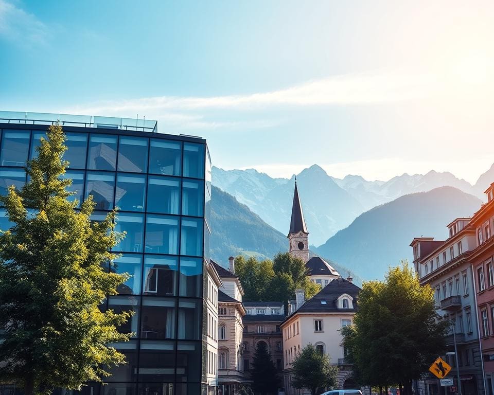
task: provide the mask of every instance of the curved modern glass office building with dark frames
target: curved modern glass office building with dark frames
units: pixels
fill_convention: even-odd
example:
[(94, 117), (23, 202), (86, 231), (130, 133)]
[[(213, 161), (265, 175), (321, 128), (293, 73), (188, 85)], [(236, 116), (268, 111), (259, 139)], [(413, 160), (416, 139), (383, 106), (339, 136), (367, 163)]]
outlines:
[[(207, 388), (203, 361), (203, 268), (209, 257), (210, 158), (202, 138), (160, 134), (156, 122), (0, 112), (0, 193), (26, 183), (48, 125), (60, 120), (68, 147), (71, 199), (93, 195), (93, 220), (119, 207), (116, 230), (127, 236), (108, 270), (132, 277), (105, 309), (135, 314), (112, 346), (127, 364), (112, 369), (91, 395), (198, 395)], [(0, 229), (10, 227), (0, 208)]]

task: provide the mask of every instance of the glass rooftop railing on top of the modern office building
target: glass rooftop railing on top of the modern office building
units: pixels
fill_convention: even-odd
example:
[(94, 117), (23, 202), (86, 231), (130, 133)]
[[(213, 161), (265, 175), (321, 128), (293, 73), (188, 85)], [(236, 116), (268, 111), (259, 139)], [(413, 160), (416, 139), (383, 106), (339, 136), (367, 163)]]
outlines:
[(52, 125), (81, 128), (120, 129), (156, 133), (157, 121), (139, 118), (99, 117), (94, 115), (70, 115), (49, 113), (24, 113), (20, 111), (0, 111), (0, 123)]

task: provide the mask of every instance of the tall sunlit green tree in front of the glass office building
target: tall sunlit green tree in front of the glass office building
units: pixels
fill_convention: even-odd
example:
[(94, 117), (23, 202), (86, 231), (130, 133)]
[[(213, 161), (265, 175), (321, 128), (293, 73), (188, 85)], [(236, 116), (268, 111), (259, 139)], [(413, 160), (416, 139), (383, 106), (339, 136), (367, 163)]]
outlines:
[(26, 395), (100, 381), (109, 366), (125, 363), (107, 345), (129, 339), (116, 327), (130, 313), (98, 308), (128, 279), (103, 270), (122, 237), (113, 231), (115, 212), (92, 223), (91, 197), (75, 210), (67, 199), (72, 181), (61, 178), (68, 164), (60, 125), (47, 136), (27, 165), (30, 181), (0, 196), (14, 223), (0, 232), (0, 382), (15, 382)]

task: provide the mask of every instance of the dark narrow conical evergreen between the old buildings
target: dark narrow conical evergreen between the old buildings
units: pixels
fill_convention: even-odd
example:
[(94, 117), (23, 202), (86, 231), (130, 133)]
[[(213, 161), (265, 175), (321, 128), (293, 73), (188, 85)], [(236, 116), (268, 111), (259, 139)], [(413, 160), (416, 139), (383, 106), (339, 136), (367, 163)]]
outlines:
[(279, 378), (266, 343), (259, 342), (252, 363), (252, 389), (261, 395), (278, 393)]

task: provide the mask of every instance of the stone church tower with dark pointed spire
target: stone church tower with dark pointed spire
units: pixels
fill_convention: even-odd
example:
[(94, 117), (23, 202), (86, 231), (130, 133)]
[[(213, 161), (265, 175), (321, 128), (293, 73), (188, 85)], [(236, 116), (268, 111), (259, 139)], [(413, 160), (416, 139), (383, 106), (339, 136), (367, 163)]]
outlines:
[(290, 232), (288, 240), (290, 241), (290, 254), (295, 258), (300, 258), (304, 263), (309, 260), (309, 232), (305, 225), (302, 204), (298, 197), (297, 180), (295, 178), (295, 191), (293, 192), (292, 219), (290, 221)]

